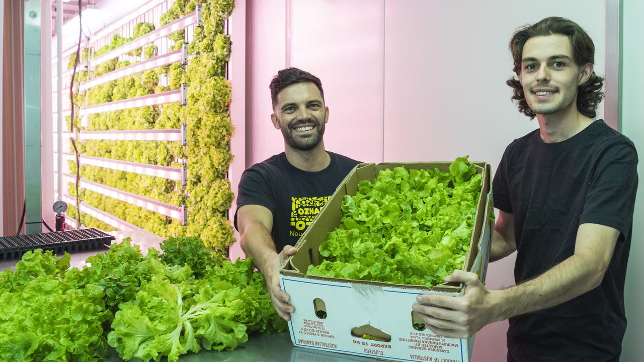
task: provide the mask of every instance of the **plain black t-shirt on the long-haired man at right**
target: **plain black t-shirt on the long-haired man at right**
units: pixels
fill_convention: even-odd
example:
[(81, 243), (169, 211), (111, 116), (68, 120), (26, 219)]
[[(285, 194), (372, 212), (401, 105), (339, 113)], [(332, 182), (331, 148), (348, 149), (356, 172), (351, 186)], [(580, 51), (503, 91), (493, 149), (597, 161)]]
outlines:
[(509, 361), (618, 361), (637, 163), (633, 143), (603, 120), (562, 142), (545, 143), (536, 129), (507, 146), (493, 190), (495, 207), (514, 216), (516, 283), (572, 256), (580, 224), (620, 231), (599, 287), (509, 319)]

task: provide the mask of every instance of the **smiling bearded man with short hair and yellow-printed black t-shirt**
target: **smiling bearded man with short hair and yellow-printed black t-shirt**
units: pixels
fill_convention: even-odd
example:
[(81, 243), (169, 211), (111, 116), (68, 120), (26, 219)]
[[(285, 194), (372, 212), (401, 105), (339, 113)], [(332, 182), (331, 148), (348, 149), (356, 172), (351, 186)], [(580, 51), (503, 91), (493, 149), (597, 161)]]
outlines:
[(269, 88), (270, 119), (281, 130), (285, 151), (244, 171), (235, 227), (243, 251), (266, 279), (273, 306), (288, 321), (295, 309), (279, 287), (279, 265), (296, 252), (291, 245), (359, 162), (325, 149), (328, 107), (316, 76), (280, 70)]

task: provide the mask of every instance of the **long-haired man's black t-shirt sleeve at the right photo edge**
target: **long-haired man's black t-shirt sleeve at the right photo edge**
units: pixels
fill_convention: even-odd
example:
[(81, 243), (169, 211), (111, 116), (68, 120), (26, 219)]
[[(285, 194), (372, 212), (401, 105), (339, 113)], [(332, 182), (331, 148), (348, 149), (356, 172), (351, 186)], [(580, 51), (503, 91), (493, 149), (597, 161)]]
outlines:
[(601, 156), (592, 176), (579, 224), (601, 224), (629, 237), (638, 190), (638, 155), (630, 144), (617, 144)]

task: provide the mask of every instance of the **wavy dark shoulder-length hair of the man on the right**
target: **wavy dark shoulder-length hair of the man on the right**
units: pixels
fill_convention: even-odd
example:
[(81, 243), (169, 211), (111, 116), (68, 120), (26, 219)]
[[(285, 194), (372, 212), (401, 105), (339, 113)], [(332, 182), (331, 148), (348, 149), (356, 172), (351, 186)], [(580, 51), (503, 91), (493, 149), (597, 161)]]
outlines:
[[(516, 75), (521, 75), (521, 55), (523, 53), (526, 41), (531, 37), (540, 35), (566, 35), (570, 39), (573, 48), (573, 60), (578, 66), (595, 62), (595, 45), (591, 37), (582, 29), (579, 24), (574, 23), (563, 17), (546, 17), (533, 25), (526, 25), (519, 28), (512, 35), (510, 40), (510, 52), (515, 61), (513, 69)], [(513, 100), (517, 101), (520, 112), (525, 113), (531, 119), (536, 114), (527, 104), (526, 95), (524, 95), (521, 83), (512, 77), (507, 80), (506, 84), (514, 89)], [(593, 71), (591, 77), (583, 84), (577, 87), (577, 109), (582, 115), (594, 119), (597, 115), (597, 107), (603, 99), (603, 78), (596, 75)]]

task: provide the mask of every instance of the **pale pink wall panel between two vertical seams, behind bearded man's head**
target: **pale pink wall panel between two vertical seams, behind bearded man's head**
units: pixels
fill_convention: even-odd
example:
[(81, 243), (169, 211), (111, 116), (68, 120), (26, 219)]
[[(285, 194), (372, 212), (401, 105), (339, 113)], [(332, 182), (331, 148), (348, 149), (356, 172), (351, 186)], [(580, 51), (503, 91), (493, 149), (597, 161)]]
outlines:
[(288, 3), (286, 65), (322, 81), (330, 112), (326, 148), (363, 162), (382, 162), (384, 3)]

